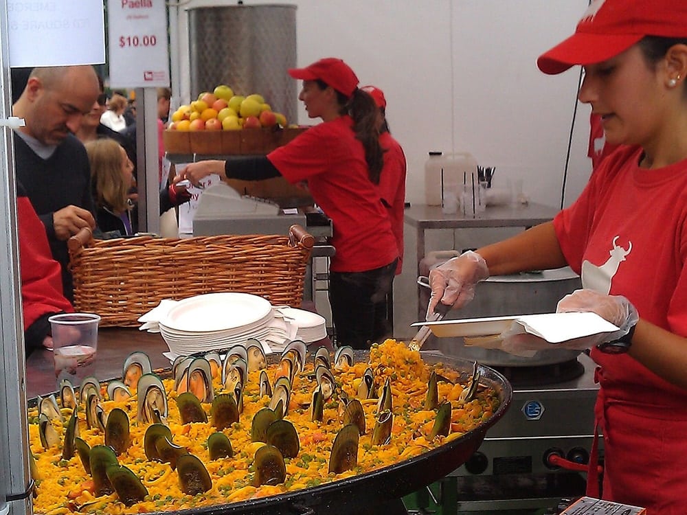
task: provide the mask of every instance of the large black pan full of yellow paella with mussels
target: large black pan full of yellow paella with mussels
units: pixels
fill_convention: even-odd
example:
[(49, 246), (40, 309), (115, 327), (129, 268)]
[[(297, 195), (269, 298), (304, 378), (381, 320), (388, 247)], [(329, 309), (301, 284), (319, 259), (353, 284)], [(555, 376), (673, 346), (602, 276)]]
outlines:
[(512, 396), (493, 369), (394, 341), (240, 348), (155, 372), (134, 354), (122, 380), (34, 400), (34, 510), (359, 513), (458, 468)]

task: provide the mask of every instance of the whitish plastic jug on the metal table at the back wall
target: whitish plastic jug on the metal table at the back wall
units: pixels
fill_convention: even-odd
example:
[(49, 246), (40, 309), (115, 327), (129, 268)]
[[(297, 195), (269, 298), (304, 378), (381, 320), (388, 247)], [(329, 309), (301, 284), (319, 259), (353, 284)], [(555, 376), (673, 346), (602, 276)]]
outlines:
[(459, 196), (462, 185), (477, 176), (477, 161), (469, 152), (429, 152), (425, 162), (425, 202), (427, 205), (442, 205), (447, 192)]

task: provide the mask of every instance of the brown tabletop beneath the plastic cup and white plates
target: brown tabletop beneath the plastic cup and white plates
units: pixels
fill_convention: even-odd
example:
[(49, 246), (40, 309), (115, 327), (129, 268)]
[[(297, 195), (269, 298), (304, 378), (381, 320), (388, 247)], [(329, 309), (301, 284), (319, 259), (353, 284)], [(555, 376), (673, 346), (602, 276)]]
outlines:
[[(331, 349), (331, 342), (327, 338), (308, 346), (325, 346)], [(170, 361), (162, 355), (169, 351), (169, 347), (161, 334), (139, 331), (137, 328), (98, 329), (95, 377), (100, 381), (120, 378), (126, 356), (135, 351), (143, 351), (150, 356), (153, 370), (170, 367)], [(56, 381), (52, 352), (36, 350), (26, 359), (26, 398), (53, 391), (56, 391)]]

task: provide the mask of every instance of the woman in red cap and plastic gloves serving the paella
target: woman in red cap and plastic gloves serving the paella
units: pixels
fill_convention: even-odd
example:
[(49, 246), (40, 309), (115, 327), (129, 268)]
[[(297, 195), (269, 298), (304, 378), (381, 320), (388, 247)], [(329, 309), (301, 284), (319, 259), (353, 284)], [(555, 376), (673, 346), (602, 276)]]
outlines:
[[(687, 2), (595, 0), (576, 32), (539, 57), (544, 73), (582, 65), (581, 102), (600, 116), (606, 157), (552, 222), (454, 258), (431, 273), (430, 309), (460, 307), (475, 283), (569, 264), (583, 290), (559, 311), (591, 311), (618, 332), (570, 341), (599, 365), (602, 496), (687, 514)], [(502, 334), (506, 350), (549, 344)], [(594, 449), (593, 449), (594, 454)], [(598, 496), (594, 459), (589, 494)]]

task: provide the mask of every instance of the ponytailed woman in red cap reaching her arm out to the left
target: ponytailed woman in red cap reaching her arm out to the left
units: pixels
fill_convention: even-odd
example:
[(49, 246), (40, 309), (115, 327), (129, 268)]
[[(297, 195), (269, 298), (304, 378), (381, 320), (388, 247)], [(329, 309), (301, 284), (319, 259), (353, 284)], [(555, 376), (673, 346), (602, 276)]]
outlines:
[(376, 106), (341, 59), (320, 59), (289, 75), (303, 80), (298, 98), (322, 124), (267, 156), (199, 161), (183, 175), (194, 184), (212, 173), (245, 181), (279, 175), (294, 184), (307, 181), (333, 222), (329, 301), (337, 344), (368, 348), (388, 336), (385, 298), (398, 260), (391, 222), (373, 184), (383, 165)]

